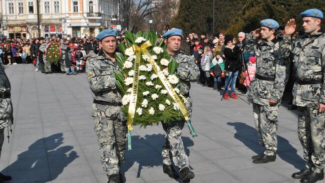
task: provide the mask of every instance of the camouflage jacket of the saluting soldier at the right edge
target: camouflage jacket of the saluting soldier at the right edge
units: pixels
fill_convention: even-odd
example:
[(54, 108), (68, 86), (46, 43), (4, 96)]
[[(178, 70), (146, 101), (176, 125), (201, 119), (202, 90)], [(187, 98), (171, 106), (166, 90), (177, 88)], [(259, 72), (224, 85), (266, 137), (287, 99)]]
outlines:
[(283, 45), (286, 56), (293, 56), (296, 80), (322, 80), (322, 84), (300, 85), (293, 88), (293, 103), (297, 106), (325, 103), (325, 33), (313, 35), (300, 33), (296, 42), (292, 43), (286, 36), (287, 44)]

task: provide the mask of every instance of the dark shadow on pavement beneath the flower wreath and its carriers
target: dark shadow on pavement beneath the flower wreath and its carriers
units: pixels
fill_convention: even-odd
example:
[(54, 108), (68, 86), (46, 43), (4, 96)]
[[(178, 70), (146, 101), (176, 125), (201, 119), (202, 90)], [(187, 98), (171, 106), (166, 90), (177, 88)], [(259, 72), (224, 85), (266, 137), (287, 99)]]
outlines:
[[(125, 160), (128, 161), (129, 164), (124, 164), (126, 166), (123, 167), (123, 171), (129, 170), (135, 163), (139, 164), (137, 172), (137, 178), (140, 177), (141, 175), (141, 170), (143, 167), (158, 167), (162, 166), (162, 157), (161, 157), (161, 152), (162, 148), (165, 144), (166, 140), (166, 135), (164, 134), (152, 134), (152, 135), (145, 135), (144, 138), (140, 136), (132, 136), (132, 146), (133, 144), (136, 146), (136, 148), (132, 149), (128, 154), (132, 155), (132, 157), (128, 158), (128, 155), (125, 156)], [(184, 143), (184, 150), (186, 155), (189, 157), (190, 156), (190, 150), (188, 147), (191, 147), (194, 145), (194, 142), (189, 138), (189, 137), (182, 137), (183, 143)], [(149, 146), (153, 146), (150, 144), (155, 143), (155, 147), (161, 146), (160, 149), (155, 149), (154, 151), (146, 151), (145, 149), (142, 150), (142, 148), (146, 148)], [(137, 151), (136, 149), (139, 149), (141, 151)], [(132, 152), (133, 151), (133, 152)], [(137, 153), (137, 154), (133, 154)], [(137, 158), (137, 156), (140, 156), (141, 158)], [(174, 166), (175, 167), (175, 166)], [(178, 168), (175, 167), (176, 171), (178, 171)], [(191, 167), (190, 167), (191, 169)], [(124, 172), (121, 171), (123, 177), (124, 177)], [(162, 167), (161, 167), (161, 173), (164, 174)], [(165, 174), (164, 174), (165, 175)], [(168, 175), (166, 174), (166, 177)], [(125, 179), (125, 177), (124, 177)], [(127, 181), (126, 181), (127, 182)], [(182, 183), (179, 181), (179, 183)]]

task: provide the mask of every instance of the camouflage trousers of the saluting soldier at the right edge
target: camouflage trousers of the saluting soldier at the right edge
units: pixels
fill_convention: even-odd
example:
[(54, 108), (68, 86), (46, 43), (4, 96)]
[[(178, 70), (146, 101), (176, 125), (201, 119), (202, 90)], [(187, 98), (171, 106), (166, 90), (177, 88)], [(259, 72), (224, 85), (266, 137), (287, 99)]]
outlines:
[(318, 112), (316, 104), (298, 106), (298, 111), (298, 137), (303, 146), (306, 168), (321, 173), (324, 170), (325, 114)]

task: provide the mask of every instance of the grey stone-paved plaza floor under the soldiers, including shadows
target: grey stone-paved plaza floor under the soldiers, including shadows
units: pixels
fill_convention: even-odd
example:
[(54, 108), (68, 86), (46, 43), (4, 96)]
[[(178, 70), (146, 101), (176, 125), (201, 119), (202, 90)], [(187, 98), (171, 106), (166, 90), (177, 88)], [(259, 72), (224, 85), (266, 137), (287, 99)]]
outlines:
[[(31, 64), (5, 66), (14, 109), (10, 143), (5, 137), (1, 173), (10, 183), (107, 183), (91, 117), (92, 97), (86, 75), (34, 72)], [(262, 152), (253, 123), (252, 105), (220, 101), (211, 88), (192, 84), (192, 124), (183, 141), (196, 177), (191, 183), (299, 183), (292, 173), (304, 167), (297, 136), (296, 111), (279, 108), (278, 156), (274, 163), (253, 164)], [(245, 95), (240, 95), (246, 100)], [(5, 131), (5, 136), (6, 135)], [(162, 173), (161, 126), (132, 132), (122, 174), (126, 183), (181, 183)]]

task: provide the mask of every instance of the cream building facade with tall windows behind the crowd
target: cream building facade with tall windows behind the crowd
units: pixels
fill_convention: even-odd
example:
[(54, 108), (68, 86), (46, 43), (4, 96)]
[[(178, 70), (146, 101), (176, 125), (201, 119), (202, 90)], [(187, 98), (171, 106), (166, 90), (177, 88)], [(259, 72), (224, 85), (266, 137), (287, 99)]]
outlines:
[[(0, 0), (2, 34), (38, 37), (37, 0)], [(38, 0), (40, 36), (95, 37), (116, 25), (119, 0)]]

